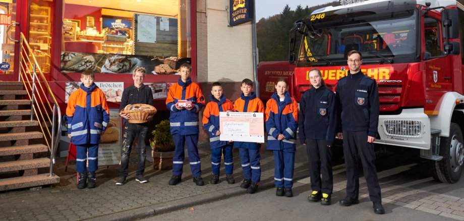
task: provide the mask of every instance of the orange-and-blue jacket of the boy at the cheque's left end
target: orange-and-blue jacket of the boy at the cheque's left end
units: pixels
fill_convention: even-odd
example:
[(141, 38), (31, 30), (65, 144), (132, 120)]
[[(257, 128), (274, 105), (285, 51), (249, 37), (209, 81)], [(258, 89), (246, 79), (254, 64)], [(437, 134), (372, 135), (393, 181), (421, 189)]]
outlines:
[(220, 100), (217, 100), (214, 96), (210, 96), (209, 99), (211, 101), (206, 104), (203, 111), (203, 127), (208, 131), (211, 148), (219, 148), (229, 143), (228, 141), (219, 140), (219, 136), (216, 136), (216, 132), (220, 128), (219, 112), (234, 111), (234, 104), (229, 99), (226, 99), (224, 95), (221, 96)]

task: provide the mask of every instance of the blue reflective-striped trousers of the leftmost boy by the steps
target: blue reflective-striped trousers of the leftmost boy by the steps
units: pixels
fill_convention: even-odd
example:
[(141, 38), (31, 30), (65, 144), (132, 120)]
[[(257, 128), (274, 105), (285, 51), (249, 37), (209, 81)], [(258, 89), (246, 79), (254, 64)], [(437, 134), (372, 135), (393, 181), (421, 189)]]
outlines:
[(89, 160), (89, 172), (97, 171), (98, 144), (76, 145), (76, 171), (78, 173), (87, 173), (87, 160)]

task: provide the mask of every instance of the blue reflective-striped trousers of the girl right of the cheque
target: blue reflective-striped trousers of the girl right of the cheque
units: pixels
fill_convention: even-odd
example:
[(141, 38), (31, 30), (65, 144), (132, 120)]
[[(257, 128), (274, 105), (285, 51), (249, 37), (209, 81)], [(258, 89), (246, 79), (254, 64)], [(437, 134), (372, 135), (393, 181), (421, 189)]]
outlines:
[(293, 187), (295, 169), (295, 152), (274, 150), (274, 184), (275, 187)]

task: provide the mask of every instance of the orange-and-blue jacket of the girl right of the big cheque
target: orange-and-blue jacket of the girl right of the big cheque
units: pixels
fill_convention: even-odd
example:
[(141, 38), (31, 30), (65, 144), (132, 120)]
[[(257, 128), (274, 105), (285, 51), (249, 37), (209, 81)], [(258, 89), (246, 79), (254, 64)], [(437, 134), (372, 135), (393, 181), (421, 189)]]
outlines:
[[(288, 92), (280, 101), (277, 92), (266, 103), (267, 149), (296, 151), (298, 129), (298, 103)], [(277, 140), (279, 134), (285, 139)]]

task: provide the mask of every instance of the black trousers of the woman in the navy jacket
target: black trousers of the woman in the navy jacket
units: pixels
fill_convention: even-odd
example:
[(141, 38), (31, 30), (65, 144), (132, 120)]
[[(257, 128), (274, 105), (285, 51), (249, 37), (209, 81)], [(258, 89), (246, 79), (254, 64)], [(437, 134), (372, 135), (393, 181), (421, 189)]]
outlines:
[(309, 161), (311, 190), (332, 194), (333, 175), (331, 149), (327, 147), (325, 140), (307, 139), (306, 153)]

